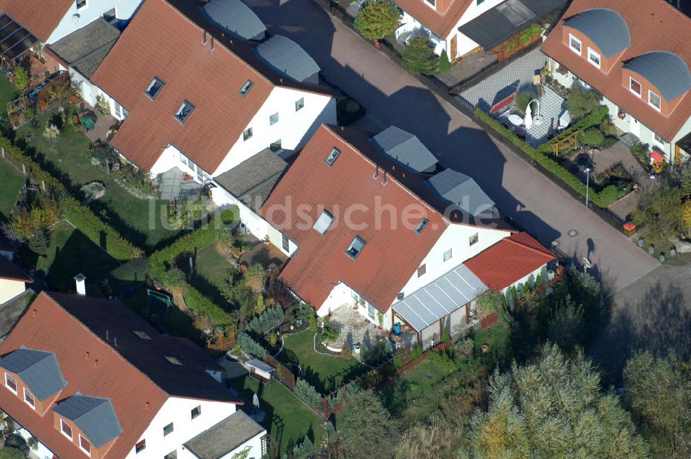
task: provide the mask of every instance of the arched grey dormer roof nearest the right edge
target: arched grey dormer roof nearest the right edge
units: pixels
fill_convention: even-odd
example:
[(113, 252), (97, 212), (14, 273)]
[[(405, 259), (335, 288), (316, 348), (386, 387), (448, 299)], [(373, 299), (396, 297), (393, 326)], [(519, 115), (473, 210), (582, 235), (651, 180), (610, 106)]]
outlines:
[(691, 89), (691, 73), (681, 57), (669, 51), (650, 51), (624, 64), (658, 88), (662, 97), (672, 100)]

